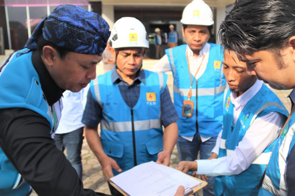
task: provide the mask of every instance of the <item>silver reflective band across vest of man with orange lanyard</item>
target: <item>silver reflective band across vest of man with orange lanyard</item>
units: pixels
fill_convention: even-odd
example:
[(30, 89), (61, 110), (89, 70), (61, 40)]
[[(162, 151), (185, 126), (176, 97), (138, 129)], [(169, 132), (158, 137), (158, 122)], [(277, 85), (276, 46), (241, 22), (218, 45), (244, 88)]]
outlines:
[[(215, 88), (198, 88), (198, 96), (213, 96), (224, 92), (226, 85), (218, 86)], [(181, 96), (187, 96), (189, 93), (189, 88), (178, 88), (173, 85), (173, 91), (179, 93)], [(196, 89), (191, 89), (192, 97), (196, 96)]]

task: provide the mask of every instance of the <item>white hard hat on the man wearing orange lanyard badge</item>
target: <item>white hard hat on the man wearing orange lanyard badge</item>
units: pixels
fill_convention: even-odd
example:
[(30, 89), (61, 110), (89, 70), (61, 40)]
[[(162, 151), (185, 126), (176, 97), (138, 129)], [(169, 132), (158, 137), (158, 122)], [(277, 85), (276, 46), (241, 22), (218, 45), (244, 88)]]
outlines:
[(203, 0), (193, 0), (182, 13), (182, 24), (205, 25), (214, 24), (211, 8)]

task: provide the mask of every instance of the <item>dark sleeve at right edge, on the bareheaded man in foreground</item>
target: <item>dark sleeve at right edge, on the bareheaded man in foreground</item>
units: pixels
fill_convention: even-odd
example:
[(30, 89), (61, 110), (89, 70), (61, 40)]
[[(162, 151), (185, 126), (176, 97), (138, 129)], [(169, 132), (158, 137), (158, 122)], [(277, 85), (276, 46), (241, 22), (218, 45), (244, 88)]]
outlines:
[(295, 195), (295, 145), (287, 158), (286, 181), (288, 186), (288, 196)]

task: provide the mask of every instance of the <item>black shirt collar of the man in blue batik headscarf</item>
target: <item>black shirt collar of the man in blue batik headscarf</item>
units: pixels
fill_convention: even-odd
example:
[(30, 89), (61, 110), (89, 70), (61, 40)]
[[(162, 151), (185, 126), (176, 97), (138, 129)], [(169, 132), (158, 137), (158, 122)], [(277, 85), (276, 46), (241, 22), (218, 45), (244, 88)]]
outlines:
[(32, 53), (32, 63), (39, 75), (41, 88), (47, 103), (48, 105), (53, 105), (63, 96), (63, 92), (65, 90), (59, 88), (59, 86), (57, 86), (53, 78), (50, 76), (38, 50), (34, 50)]

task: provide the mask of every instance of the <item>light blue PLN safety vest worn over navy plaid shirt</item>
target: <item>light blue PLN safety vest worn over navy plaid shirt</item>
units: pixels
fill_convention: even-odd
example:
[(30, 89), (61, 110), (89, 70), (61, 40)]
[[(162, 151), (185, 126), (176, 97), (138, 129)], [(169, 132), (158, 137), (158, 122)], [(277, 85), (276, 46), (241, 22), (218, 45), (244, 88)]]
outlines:
[[(91, 93), (102, 108), (100, 137), (104, 152), (123, 172), (156, 161), (163, 150), (160, 93), (165, 89), (167, 75), (143, 71), (146, 83), (140, 84), (140, 95), (133, 108), (124, 102), (118, 84), (112, 83), (112, 71), (90, 83)], [(114, 169), (113, 173), (118, 174)]]

